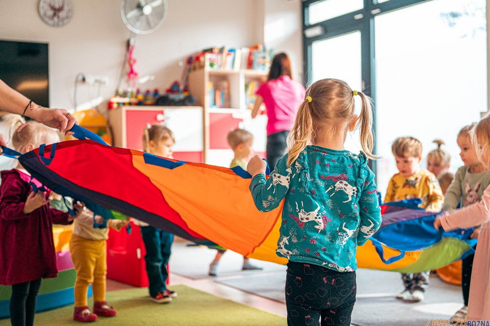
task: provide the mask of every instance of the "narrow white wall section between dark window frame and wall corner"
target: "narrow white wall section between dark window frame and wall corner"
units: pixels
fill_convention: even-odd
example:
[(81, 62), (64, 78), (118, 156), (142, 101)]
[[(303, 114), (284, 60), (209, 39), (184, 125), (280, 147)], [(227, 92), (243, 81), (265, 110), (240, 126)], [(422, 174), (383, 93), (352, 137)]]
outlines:
[(301, 0), (264, 1), (264, 44), (291, 58), (293, 78), (303, 82)]

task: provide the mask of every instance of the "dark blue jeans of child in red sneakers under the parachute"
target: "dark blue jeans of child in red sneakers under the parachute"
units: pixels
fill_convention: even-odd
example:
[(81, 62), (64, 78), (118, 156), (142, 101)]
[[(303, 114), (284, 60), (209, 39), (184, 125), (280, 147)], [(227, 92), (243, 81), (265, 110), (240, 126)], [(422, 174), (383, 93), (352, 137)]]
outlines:
[(168, 278), (167, 264), (170, 259), (170, 248), (174, 235), (157, 228), (142, 227), (141, 235), (147, 254), (147, 273), (149, 281), (149, 293), (151, 296), (167, 290), (165, 282)]

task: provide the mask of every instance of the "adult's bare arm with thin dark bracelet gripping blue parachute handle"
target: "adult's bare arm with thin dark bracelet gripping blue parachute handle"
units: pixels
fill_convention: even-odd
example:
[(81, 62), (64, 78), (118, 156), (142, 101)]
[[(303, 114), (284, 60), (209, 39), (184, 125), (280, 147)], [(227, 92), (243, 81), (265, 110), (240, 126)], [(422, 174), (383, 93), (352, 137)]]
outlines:
[[(76, 124), (77, 120), (67, 114), (65, 109), (50, 109), (39, 106), (21, 93), (10, 88), (0, 79), (0, 110), (15, 114), (23, 114), (37, 122), (43, 123), (61, 132), (66, 132)], [(27, 107), (27, 110), (26, 110)], [(25, 113), (24, 113), (25, 110)]]

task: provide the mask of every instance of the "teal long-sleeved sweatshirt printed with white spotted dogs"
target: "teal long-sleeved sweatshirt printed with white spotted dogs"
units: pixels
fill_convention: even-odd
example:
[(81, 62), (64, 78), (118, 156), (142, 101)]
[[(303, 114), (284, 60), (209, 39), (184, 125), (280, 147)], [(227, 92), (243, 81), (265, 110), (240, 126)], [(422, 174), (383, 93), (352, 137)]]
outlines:
[(340, 272), (357, 269), (356, 247), (381, 225), (374, 174), (364, 153), (309, 145), (291, 166), (283, 156), (270, 178), (250, 183), (261, 212), (285, 198), (276, 254)]

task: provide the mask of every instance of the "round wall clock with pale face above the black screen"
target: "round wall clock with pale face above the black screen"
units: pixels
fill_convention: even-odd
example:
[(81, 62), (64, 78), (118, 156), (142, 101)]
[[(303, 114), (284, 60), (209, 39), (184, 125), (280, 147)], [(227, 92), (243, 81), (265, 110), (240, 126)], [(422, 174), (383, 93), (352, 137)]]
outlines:
[(73, 3), (71, 0), (39, 0), (38, 11), (46, 24), (61, 27), (73, 16)]

